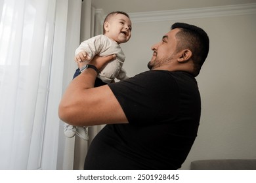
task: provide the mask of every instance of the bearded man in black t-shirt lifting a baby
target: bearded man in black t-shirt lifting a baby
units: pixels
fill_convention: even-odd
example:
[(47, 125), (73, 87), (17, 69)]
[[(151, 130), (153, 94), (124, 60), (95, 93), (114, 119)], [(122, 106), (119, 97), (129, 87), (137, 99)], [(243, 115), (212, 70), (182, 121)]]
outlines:
[(179, 169), (188, 156), (201, 113), (194, 77), (209, 38), (199, 27), (175, 23), (152, 50), (150, 71), (93, 88), (98, 69), (114, 56), (96, 58), (64, 93), (64, 122), (107, 124), (89, 147), (85, 169)]

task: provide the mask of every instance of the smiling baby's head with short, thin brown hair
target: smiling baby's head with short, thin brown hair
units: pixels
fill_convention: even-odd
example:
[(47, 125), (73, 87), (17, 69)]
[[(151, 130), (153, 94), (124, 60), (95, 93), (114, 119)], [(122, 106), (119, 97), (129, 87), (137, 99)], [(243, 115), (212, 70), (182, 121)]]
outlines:
[(108, 14), (103, 23), (103, 33), (118, 44), (131, 38), (131, 20), (125, 12), (116, 11)]

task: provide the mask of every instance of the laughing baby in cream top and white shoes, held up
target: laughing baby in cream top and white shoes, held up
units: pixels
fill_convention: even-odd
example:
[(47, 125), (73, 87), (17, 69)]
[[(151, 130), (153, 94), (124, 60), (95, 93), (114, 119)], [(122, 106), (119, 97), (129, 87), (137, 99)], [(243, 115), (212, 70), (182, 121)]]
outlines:
[[(75, 60), (89, 63), (94, 56), (109, 56), (116, 54), (116, 59), (108, 63), (95, 80), (95, 87), (114, 82), (114, 79), (126, 80), (129, 77), (122, 68), (125, 54), (119, 44), (129, 41), (131, 38), (131, 20), (125, 12), (116, 11), (108, 14), (103, 24), (103, 35), (97, 35), (81, 42), (75, 50)], [(80, 74), (80, 69), (75, 71), (74, 78)], [(75, 127), (64, 124), (66, 137), (74, 137), (77, 134), (81, 139), (88, 141), (88, 127)]]

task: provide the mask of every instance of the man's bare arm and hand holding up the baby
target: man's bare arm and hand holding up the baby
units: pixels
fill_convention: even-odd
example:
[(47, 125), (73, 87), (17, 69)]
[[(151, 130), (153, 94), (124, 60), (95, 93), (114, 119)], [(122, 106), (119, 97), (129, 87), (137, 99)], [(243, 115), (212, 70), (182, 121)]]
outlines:
[[(95, 57), (90, 64), (101, 69), (113, 58)], [(128, 123), (112, 90), (107, 85), (93, 88), (96, 76), (89, 68), (72, 80), (60, 101), (60, 119), (76, 126)]]

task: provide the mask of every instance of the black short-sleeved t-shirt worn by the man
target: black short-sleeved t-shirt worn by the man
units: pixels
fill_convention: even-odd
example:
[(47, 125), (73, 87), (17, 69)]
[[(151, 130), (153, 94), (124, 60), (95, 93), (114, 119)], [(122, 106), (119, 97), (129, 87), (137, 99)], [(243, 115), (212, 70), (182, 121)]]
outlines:
[(179, 169), (197, 135), (201, 102), (194, 76), (146, 71), (109, 84), (129, 124), (96, 135), (85, 169)]

